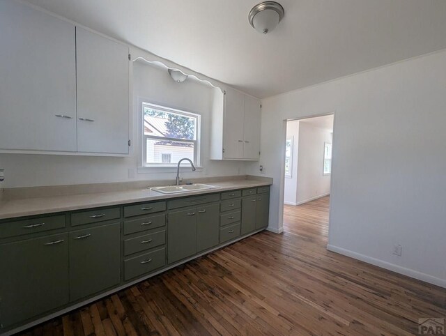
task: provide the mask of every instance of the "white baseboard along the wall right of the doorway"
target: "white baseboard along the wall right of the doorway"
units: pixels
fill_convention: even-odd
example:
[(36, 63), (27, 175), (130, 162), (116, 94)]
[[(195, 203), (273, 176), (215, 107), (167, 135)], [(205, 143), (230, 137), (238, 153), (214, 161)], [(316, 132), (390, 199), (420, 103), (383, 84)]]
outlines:
[(331, 252), (336, 252), (342, 254), (347, 257), (351, 257), (353, 259), (357, 259), (360, 261), (364, 261), (367, 264), (372, 264), (374, 266), (378, 266), (380, 268), (385, 268), (386, 270), (392, 270), (393, 272), (407, 275), (408, 277), (413, 277), (414, 279), (421, 280), (424, 282), (428, 282), (429, 284), (435, 284), (436, 286), (446, 288), (446, 280), (440, 279), (439, 277), (433, 277), (432, 275), (418, 272), (417, 270), (412, 270), (410, 268), (405, 268), (402, 266), (398, 266), (395, 264), (391, 264), (387, 261), (383, 261), (380, 259), (368, 257), (364, 254), (360, 254), (357, 252), (353, 252), (351, 250), (346, 250), (342, 247), (337, 247), (334, 245), (327, 245), (327, 250)]

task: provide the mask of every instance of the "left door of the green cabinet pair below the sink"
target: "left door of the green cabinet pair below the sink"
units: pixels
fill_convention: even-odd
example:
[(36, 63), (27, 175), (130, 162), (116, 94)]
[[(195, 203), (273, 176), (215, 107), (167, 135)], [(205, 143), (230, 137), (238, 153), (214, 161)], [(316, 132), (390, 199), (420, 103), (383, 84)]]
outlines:
[(167, 262), (172, 264), (197, 252), (197, 209), (169, 212)]

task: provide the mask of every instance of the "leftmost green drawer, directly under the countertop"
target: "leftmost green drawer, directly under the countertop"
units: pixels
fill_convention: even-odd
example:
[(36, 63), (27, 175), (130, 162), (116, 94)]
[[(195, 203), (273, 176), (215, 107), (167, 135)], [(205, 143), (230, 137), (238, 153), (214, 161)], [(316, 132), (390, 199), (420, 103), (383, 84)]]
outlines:
[(0, 238), (36, 234), (66, 227), (65, 215), (31, 218), (0, 223)]

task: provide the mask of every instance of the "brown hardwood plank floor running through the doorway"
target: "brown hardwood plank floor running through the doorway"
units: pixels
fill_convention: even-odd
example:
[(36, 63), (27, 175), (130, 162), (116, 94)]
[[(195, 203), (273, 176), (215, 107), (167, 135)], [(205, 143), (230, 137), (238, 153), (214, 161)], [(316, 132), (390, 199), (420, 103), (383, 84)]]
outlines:
[(328, 197), (24, 335), (413, 335), (446, 290), (325, 250)]

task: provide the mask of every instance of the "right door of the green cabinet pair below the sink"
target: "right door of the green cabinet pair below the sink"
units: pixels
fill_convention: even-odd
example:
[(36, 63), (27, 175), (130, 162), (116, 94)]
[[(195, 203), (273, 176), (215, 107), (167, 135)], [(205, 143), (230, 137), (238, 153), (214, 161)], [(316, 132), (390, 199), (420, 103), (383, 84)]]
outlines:
[(219, 220), (220, 204), (197, 207), (197, 252), (218, 245)]

